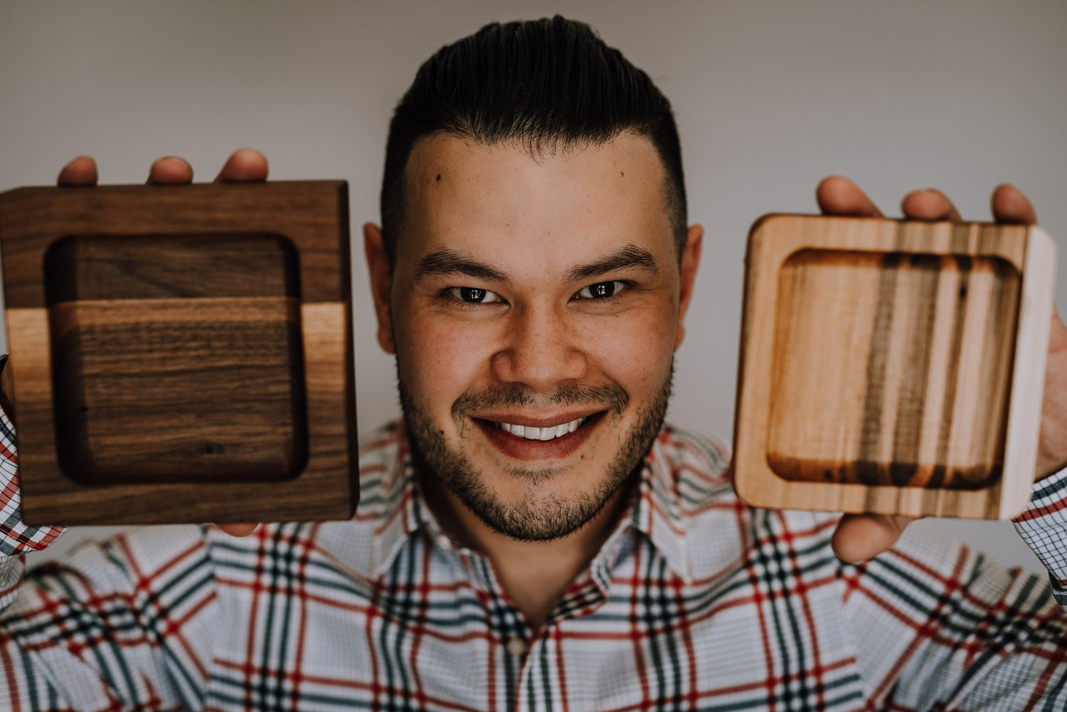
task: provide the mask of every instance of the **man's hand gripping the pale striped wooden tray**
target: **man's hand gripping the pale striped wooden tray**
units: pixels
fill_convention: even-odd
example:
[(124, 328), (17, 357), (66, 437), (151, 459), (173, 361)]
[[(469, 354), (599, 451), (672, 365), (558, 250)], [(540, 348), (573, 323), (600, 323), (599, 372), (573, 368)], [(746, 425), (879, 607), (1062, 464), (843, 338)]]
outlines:
[[(881, 210), (856, 184), (841, 176), (824, 179), (815, 191), (826, 215), (880, 218)], [(1032, 225), (1037, 216), (1030, 201), (1013, 186), (998, 186), (992, 194), (997, 222)], [(904, 196), (901, 210), (909, 220), (959, 220), (959, 212), (939, 190), (915, 190)], [(1037, 445), (1036, 477), (1039, 479), (1067, 463), (1067, 329), (1053, 308), (1049, 335), (1049, 360), (1045, 375), (1045, 402)], [(833, 534), (833, 551), (846, 561), (862, 561), (888, 550), (899, 538), (912, 517), (845, 515)]]

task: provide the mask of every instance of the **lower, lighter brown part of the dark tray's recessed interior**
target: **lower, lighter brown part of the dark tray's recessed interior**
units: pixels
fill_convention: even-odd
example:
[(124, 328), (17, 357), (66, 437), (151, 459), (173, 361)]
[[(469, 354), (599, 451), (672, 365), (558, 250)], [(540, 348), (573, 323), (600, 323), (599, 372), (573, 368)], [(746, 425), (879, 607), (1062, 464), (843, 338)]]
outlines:
[(57, 444), (67, 476), (85, 484), (274, 480), (303, 470), (296, 299), (87, 300), (49, 312)]

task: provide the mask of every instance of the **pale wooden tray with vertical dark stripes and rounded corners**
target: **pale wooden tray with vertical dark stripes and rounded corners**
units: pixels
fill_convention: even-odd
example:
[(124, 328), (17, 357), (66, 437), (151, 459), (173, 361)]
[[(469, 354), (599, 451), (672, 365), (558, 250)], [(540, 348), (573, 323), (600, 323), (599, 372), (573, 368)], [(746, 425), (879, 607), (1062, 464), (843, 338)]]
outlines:
[(734, 487), (778, 509), (1007, 519), (1030, 500), (1040, 228), (773, 215), (749, 235)]

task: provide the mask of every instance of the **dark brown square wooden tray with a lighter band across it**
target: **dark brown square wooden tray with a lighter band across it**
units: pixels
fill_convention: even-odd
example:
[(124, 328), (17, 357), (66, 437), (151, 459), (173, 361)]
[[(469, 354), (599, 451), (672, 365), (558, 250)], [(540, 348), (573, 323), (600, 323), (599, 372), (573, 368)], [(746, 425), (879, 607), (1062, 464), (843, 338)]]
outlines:
[(20, 188), (0, 248), (22, 519), (347, 519), (347, 184)]

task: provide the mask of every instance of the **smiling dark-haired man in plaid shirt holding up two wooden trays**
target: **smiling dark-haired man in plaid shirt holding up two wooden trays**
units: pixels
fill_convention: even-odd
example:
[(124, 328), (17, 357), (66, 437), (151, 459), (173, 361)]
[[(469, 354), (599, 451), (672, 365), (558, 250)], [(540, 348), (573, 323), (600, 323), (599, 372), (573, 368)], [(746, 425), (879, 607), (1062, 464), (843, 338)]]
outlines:
[[(239, 152), (220, 177), (266, 162)], [(150, 179), (191, 171), (163, 159)], [(60, 180), (91, 184), (95, 164)], [(842, 178), (818, 200), (877, 213)], [(957, 217), (936, 191), (904, 210)], [(1034, 220), (1010, 187), (993, 210)], [(10, 559), (12, 705), (1061, 708), (1067, 616), (1048, 584), (950, 541), (885, 551), (899, 519), (750, 510), (721, 448), (663, 426), (701, 237), (669, 104), (588, 28), (489, 26), (443, 48), (397, 109), (382, 226), (365, 227), (404, 423), (367, 439), (355, 518), (157, 527), (21, 587)], [(1054, 396), (1065, 344), (1056, 320)], [(1042, 476), (1067, 461), (1046, 400)], [(1020, 518), (1061, 590), (1065, 493), (1044, 477)], [(54, 535), (7, 526), (7, 554)], [(843, 557), (880, 555), (843, 564), (835, 529)]]

